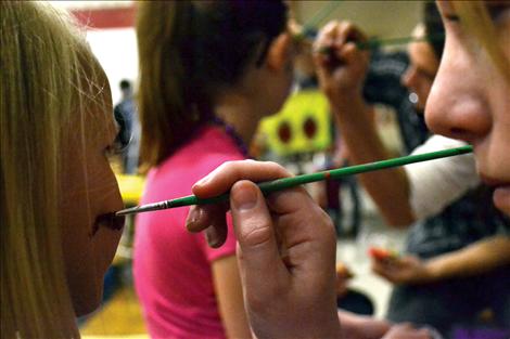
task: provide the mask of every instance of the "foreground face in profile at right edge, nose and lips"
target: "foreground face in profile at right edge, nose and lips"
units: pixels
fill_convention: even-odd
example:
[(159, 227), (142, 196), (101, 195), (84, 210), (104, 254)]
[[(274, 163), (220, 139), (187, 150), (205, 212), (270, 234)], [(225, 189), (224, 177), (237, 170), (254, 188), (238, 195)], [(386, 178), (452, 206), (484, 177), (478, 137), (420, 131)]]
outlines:
[[(477, 171), (495, 188), (495, 206), (510, 214), (510, 79), (462, 27), (451, 3), (437, 4), (446, 44), (425, 109), (426, 122), (436, 133), (473, 145)], [(487, 1), (485, 5), (510, 63), (510, 3)]]

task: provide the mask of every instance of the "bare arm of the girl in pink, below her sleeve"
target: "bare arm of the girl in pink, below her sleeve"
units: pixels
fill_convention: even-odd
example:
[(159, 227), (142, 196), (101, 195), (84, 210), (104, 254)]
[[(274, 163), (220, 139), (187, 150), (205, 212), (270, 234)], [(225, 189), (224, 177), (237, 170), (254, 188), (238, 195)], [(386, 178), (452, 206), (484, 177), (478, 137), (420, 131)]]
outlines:
[(213, 262), (213, 279), (227, 338), (252, 338), (235, 256)]

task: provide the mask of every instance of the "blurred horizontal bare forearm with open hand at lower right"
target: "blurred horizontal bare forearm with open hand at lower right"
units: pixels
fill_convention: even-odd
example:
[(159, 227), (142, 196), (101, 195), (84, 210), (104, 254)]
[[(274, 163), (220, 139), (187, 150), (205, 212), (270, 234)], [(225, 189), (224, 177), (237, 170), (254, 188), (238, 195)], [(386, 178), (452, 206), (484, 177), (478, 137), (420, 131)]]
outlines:
[(372, 269), (394, 284), (429, 284), (480, 275), (510, 265), (510, 237), (498, 235), (428, 261), (416, 257), (374, 260)]

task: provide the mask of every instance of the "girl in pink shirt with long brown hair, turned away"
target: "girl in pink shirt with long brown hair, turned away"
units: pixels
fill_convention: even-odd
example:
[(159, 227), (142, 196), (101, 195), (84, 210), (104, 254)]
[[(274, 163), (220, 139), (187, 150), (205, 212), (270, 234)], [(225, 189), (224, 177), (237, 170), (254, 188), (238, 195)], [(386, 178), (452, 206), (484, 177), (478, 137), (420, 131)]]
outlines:
[[(247, 157), (258, 121), (289, 94), (292, 40), (281, 1), (144, 2), (137, 31), (149, 204), (189, 195), (222, 162)], [(149, 333), (250, 337), (231, 224), (212, 249), (186, 230), (188, 210), (137, 218), (135, 283)]]

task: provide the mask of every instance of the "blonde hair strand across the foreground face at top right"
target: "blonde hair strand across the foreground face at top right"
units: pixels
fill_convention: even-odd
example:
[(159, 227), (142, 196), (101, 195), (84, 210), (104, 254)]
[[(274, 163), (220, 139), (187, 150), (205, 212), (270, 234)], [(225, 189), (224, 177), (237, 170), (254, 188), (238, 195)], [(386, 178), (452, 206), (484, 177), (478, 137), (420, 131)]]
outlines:
[(496, 67), (510, 81), (510, 62), (497, 41), (496, 29), (483, 1), (454, 1), (456, 13), (466, 29), (472, 34), (487, 52)]

